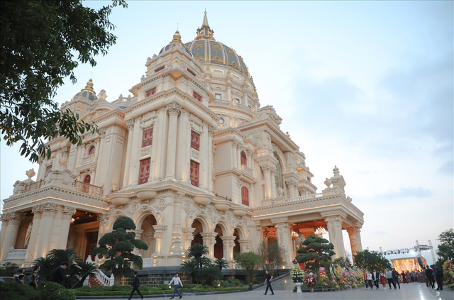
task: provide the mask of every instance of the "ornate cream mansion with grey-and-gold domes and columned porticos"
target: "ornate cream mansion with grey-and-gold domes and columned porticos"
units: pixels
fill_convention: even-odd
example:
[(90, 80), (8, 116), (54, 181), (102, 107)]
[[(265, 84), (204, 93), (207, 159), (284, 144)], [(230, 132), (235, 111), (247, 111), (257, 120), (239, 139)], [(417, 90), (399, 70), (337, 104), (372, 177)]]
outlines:
[(362, 250), (363, 213), (339, 170), (316, 194), (306, 157), (275, 109), (260, 107), (243, 58), (213, 33), (206, 13), (191, 42), (177, 31), (148, 58), (133, 96), (106, 101), (90, 79), (62, 105), (99, 130), (80, 147), (52, 138), (35, 181), (30, 170), (14, 184), (1, 214), (1, 263), (27, 267), (55, 248), (86, 259), (120, 216), (149, 245), (144, 267), (179, 266), (193, 243), (232, 266), (263, 240), (284, 246), (290, 267), (295, 240), (318, 228), (336, 257), (345, 255), (342, 230), (351, 252)]

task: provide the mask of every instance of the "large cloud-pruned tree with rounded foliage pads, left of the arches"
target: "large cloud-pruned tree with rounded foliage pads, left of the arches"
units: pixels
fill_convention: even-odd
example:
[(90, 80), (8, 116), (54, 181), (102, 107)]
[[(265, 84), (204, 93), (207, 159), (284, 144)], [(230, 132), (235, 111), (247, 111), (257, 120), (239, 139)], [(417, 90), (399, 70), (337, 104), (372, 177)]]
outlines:
[(148, 249), (142, 240), (135, 239), (135, 224), (131, 218), (122, 216), (114, 223), (114, 231), (106, 233), (99, 240), (99, 247), (93, 249), (92, 257), (106, 257), (106, 261), (99, 267), (111, 271), (115, 277), (115, 284), (121, 285), (121, 277), (132, 276), (131, 265), (142, 269), (142, 257), (133, 253), (134, 249)]

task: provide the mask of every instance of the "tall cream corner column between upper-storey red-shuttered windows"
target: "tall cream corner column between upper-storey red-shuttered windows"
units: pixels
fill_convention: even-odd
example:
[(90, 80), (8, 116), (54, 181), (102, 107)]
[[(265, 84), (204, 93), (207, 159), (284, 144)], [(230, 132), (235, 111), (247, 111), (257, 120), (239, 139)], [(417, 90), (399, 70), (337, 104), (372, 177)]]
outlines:
[(182, 111), (182, 106), (177, 102), (172, 102), (166, 106), (169, 114), (169, 131), (167, 140), (167, 160), (165, 169), (165, 179), (175, 181), (175, 161), (177, 160), (177, 125), (178, 116)]

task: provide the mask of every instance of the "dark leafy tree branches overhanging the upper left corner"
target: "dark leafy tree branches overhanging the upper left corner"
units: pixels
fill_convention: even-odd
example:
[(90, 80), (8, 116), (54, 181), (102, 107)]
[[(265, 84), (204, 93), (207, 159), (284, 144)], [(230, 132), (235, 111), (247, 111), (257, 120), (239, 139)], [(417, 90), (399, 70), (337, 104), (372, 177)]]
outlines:
[(98, 10), (82, 0), (0, 1), (0, 132), (6, 145), (21, 142), (31, 162), (50, 157), (43, 139), (60, 135), (81, 145), (79, 133), (96, 130), (77, 113), (60, 111), (52, 97), (65, 77), (77, 81), (79, 62), (94, 67), (94, 56), (116, 43), (109, 16), (118, 5), (127, 7), (124, 0)]

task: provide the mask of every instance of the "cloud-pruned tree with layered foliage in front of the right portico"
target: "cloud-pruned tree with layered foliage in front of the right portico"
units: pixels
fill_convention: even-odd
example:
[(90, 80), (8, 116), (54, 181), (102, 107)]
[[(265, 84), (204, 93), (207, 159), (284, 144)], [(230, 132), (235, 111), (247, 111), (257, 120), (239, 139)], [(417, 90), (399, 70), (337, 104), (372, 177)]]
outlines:
[(319, 270), (320, 265), (330, 262), (331, 257), (336, 254), (333, 249), (334, 245), (326, 238), (311, 234), (298, 249), (297, 260), (304, 263), (307, 270)]

